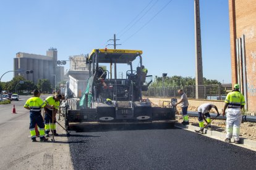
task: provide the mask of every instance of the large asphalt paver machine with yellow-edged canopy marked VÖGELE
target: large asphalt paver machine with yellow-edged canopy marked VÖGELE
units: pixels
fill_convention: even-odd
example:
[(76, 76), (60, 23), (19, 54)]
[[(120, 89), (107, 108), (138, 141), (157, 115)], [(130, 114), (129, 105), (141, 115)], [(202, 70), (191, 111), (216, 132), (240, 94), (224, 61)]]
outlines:
[[(135, 61), (136, 67), (132, 65)], [(151, 107), (151, 102), (142, 98), (142, 92), (148, 90), (152, 81), (152, 76), (143, 70), (142, 51), (93, 49), (86, 62), (90, 75), (87, 89), (75, 109), (67, 102), (67, 129), (99, 124), (176, 122), (176, 107)], [(117, 78), (117, 67), (124, 64), (128, 68), (126, 75)], [(106, 65), (110, 65), (109, 70)]]

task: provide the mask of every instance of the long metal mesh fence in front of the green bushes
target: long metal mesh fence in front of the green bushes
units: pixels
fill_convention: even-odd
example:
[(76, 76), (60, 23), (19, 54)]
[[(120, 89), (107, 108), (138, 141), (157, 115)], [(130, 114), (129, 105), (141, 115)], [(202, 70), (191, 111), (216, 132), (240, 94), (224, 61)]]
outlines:
[[(144, 97), (179, 97), (177, 93), (182, 89), (190, 99), (224, 100), (232, 86), (222, 86), (221, 84), (200, 85), (200, 86), (169, 86), (169, 87), (148, 87), (148, 91), (143, 92)], [(198, 89), (198, 96), (195, 91)]]

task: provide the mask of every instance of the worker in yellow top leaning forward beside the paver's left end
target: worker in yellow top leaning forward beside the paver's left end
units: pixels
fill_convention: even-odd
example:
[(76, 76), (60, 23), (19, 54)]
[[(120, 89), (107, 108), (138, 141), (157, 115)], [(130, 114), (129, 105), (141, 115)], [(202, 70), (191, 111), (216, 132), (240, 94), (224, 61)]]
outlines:
[(53, 108), (45, 108), (45, 136), (49, 137), (49, 131), (58, 136), (56, 132), (56, 113), (59, 109), (59, 100), (61, 100), (61, 94), (49, 96), (45, 99), (45, 104), (53, 105)]

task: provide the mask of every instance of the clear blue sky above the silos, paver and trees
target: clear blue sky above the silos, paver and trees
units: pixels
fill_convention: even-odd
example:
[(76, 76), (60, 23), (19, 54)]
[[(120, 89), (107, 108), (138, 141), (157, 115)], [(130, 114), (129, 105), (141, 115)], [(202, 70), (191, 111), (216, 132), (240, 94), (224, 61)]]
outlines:
[[(228, 0), (200, 0), (200, 19), (203, 77), (231, 83)], [(117, 49), (143, 51), (148, 75), (195, 77), (194, 0), (2, 0), (0, 21), (0, 75), (14, 69), (17, 52), (55, 47), (68, 60), (116, 34)]]

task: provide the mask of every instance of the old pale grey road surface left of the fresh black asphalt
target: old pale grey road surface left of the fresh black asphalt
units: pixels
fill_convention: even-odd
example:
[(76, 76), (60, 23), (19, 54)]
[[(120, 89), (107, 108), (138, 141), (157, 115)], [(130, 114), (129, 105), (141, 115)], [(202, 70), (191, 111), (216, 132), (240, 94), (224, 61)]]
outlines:
[[(0, 105), (0, 169), (73, 169), (69, 143), (61, 129), (55, 143), (31, 142), (29, 111), (23, 108), (28, 97)], [(17, 114), (12, 114), (14, 104)]]

